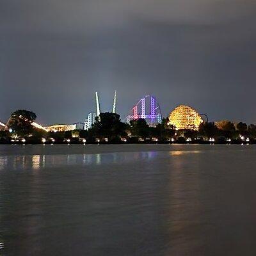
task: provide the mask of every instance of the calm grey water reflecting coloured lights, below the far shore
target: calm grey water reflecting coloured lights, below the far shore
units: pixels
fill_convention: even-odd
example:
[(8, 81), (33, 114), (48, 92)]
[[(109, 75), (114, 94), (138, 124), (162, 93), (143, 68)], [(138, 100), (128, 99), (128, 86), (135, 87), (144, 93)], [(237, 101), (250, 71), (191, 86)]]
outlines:
[(0, 255), (256, 255), (253, 145), (0, 146)]

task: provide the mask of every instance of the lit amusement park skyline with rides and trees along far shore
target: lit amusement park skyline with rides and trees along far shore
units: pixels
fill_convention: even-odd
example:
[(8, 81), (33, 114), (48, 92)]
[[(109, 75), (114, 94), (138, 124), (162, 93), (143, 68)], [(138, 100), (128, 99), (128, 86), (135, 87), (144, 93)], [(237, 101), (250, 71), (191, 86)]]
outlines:
[(0, 122), (0, 143), (254, 143), (256, 126), (228, 120), (209, 122), (187, 105), (179, 105), (166, 118), (156, 97), (145, 95), (125, 118), (117, 113), (117, 92), (110, 112), (100, 108), (95, 92), (95, 111), (74, 124), (45, 126), (36, 114), (19, 109)]

